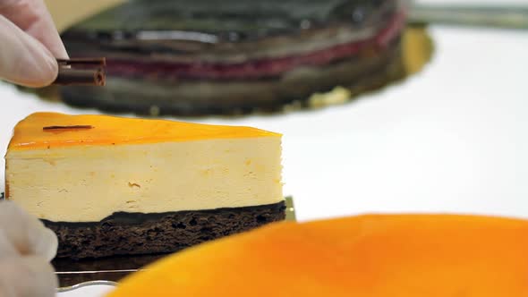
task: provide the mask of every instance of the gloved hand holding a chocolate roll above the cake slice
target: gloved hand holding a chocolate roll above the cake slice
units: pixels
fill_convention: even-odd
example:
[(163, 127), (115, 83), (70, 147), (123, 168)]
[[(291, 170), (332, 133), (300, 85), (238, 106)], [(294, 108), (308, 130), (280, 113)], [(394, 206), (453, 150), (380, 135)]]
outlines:
[(55, 81), (68, 58), (43, 0), (0, 0), (0, 79), (28, 87)]

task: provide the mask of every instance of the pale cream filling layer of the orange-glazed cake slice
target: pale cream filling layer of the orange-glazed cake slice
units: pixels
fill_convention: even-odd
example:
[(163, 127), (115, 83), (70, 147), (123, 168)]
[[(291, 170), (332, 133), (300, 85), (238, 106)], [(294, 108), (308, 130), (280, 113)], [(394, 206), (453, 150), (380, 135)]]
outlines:
[(32, 215), (241, 208), (283, 200), (280, 137), (10, 150), (6, 186)]

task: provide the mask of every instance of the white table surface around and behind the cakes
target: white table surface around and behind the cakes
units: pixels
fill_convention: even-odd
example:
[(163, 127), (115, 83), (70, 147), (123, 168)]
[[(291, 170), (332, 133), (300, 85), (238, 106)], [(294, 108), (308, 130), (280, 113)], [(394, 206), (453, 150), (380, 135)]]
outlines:
[[(352, 104), (200, 122), (283, 132), (285, 194), (302, 221), (371, 212), (528, 217), (528, 32), (430, 33), (436, 53), (423, 72)], [(97, 113), (0, 84), (0, 154), (15, 123), (37, 111)]]

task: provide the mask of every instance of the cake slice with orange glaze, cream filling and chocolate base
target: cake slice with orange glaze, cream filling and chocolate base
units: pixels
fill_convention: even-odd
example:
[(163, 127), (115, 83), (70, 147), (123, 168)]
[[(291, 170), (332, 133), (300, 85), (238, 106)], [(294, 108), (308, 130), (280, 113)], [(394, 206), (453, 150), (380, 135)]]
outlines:
[(6, 198), (57, 233), (57, 257), (172, 252), (282, 220), (281, 135), (104, 115), (30, 115)]

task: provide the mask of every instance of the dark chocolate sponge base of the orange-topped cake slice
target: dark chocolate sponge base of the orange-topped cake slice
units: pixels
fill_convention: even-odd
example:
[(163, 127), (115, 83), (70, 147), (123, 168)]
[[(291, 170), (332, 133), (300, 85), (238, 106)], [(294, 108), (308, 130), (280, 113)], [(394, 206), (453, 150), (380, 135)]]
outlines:
[(285, 202), (160, 214), (115, 213), (100, 222), (43, 220), (58, 237), (57, 258), (169, 253), (285, 219)]

